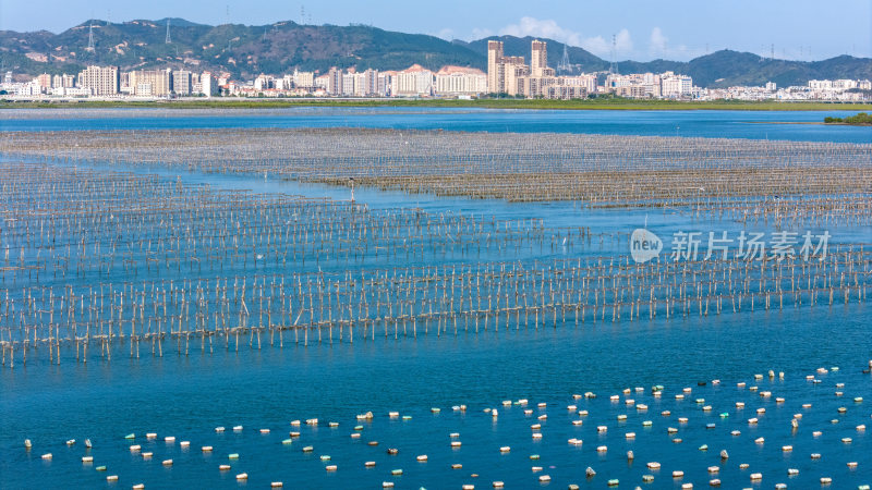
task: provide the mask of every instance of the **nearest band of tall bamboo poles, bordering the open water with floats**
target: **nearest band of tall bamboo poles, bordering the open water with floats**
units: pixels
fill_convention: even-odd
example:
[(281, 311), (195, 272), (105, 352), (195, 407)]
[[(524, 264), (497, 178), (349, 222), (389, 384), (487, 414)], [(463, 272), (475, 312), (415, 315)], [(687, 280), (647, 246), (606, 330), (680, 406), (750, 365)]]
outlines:
[(256, 348), (262, 335), (283, 346), (286, 331), (307, 345), (315, 338), (353, 342), (833, 306), (864, 302), (871, 272), (872, 253), (859, 248), (811, 262), (562, 259), (0, 290), (0, 344), (3, 365), (14, 366), (16, 350), (25, 363), (28, 352), (60, 363), (61, 346), (74, 345), (75, 358), (85, 360), (89, 344), (110, 356), (110, 344), (124, 340), (131, 356), (142, 342), (162, 355), (164, 341), (173, 339), (177, 353), (186, 354), (192, 339), (203, 351), (215, 339), (238, 350), (241, 335)]

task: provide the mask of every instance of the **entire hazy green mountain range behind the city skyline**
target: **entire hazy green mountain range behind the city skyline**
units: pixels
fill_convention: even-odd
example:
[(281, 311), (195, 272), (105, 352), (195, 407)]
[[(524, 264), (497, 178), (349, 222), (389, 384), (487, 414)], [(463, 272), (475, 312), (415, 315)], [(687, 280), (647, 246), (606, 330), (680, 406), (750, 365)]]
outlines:
[[(167, 24), (169, 23), (169, 42)], [(93, 34), (92, 34), (93, 33)], [(88, 49), (89, 37), (94, 49)], [(77, 73), (88, 64), (118, 65), (121, 70), (172, 66), (192, 71), (227, 71), (251, 78), (259, 73), (289, 73), (294, 69), (319, 71), (331, 66), (365, 70), (402, 70), (421, 64), (486, 70), (487, 41), (501, 40), (507, 56), (530, 58), (532, 37), (492, 36), (465, 42), (384, 30), (352, 24), (302, 25), (291, 21), (269, 25), (210, 26), (183, 19), (107, 23), (92, 20), (60, 34), (47, 30), (0, 30), (0, 70), (36, 75)], [(564, 44), (546, 38), (549, 65), (556, 68)], [(574, 46), (567, 46), (574, 73), (605, 71), (609, 62)], [(814, 78), (872, 78), (872, 59), (840, 56), (822, 61), (762, 58), (749, 52), (720, 50), (693, 60), (619, 61), (620, 73), (674, 71), (693, 77), (701, 87), (731, 85), (804, 85)]]

